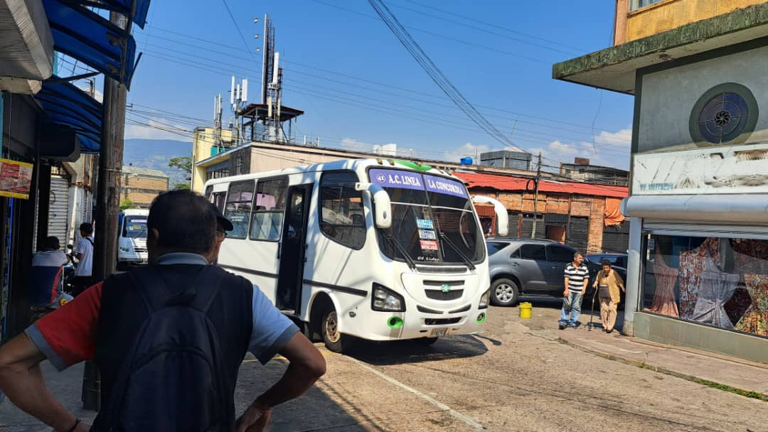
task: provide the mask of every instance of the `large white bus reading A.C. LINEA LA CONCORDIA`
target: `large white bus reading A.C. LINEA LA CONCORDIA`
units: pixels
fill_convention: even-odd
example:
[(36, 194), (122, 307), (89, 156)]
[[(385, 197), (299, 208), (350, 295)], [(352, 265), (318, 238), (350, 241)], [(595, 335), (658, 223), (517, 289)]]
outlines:
[[(340, 160), (209, 180), (232, 221), (218, 265), (243, 275), (310, 338), (419, 339), (483, 330), (488, 253), (456, 177), (397, 160)], [(507, 213), (494, 200), (499, 232)]]

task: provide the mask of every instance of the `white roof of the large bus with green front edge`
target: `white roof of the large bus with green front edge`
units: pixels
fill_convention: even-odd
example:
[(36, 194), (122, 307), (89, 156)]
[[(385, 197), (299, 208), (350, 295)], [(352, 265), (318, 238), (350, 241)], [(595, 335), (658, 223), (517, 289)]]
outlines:
[[(220, 177), (205, 182), (205, 187), (218, 183), (230, 183), (237, 180), (260, 179), (265, 177), (286, 176), (288, 174), (313, 173), (316, 171), (333, 170), (364, 170), (366, 167), (396, 167), (398, 170), (410, 170), (422, 173), (439, 174), (442, 176), (452, 176), (452, 174), (438, 170), (429, 165), (407, 160), (395, 159), (345, 159), (334, 160), (333, 162), (321, 162), (302, 167), (283, 168), (282, 170), (265, 171), (263, 173), (241, 174), (239, 176)], [(457, 178), (457, 180), (462, 181)], [(463, 181), (462, 181), (463, 183)]]

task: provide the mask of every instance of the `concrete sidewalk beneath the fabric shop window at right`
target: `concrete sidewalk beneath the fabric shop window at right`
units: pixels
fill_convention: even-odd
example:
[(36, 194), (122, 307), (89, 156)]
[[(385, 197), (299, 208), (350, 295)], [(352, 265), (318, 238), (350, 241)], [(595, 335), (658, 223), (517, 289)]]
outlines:
[(536, 299), (532, 319), (519, 318), (517, 314), (514, 319), (530, 328), (531, 335), (568, 344), (603, 358), (634, 364), (640, 368), (690, 381), (711, 381), (768, 397), (768, 364), (621, 335), (619, 331), (621, 322), (624, 321), (624, 314), (621, 312), (616, 322), (617, 331), (604, 333), (598, 316), (593, 317), (594, 326), (590, 331), (590, 310), (586, 305), (580, 318), (581, 326), (558, 330), (560, 304), (560, 300)]

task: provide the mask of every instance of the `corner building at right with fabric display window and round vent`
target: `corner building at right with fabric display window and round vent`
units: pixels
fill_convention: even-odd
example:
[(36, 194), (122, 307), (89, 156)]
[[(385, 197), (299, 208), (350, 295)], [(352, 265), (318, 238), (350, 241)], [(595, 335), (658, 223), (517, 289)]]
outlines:
[(624, 331), (768, 363), (768, 3), (617, 5), (627, 42), (553, 75), (634, 94)]

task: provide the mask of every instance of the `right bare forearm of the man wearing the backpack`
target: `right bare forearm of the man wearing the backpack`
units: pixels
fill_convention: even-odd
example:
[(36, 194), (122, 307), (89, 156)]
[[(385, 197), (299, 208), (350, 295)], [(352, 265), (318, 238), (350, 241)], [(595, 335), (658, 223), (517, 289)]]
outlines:
[(266, 427), (266, 422), (259, 422), (260, 418), (268, 418), (273, 407), (304, 394), (326, 373), (326, 359), (315, 345), (300, 333), (296, 333), (279, 353), (290, 362), (288, 369), (283, 378), (257, 397), (237, 420), (238, 432), (250, 430), (252, 425), (260, 426), (254, 427), (257, 430)]

